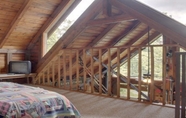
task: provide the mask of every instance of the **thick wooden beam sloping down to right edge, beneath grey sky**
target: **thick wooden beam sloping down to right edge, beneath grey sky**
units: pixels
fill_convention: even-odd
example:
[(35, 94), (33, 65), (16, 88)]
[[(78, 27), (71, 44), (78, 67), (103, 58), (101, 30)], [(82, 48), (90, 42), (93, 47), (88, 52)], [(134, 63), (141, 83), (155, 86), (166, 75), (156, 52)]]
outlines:
[(137, 1), (110, 0), (110, 3), (123, 12), (131, 14), (133, 17), (166, 35), (180, 45), (186, 45), (186, 27), (176, 20)]

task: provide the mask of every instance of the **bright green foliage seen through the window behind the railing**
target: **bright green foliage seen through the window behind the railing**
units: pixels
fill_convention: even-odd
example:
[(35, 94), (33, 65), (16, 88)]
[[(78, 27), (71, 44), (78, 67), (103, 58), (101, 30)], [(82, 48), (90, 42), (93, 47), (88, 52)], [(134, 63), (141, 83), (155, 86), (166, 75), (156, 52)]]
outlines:
[[(151, 45), (160, 45), (162, 44), (162, 37), (158, 38), (156, 41), (154, 41)], [(149, 49), (150, 50), (150, 49)], [(162, 79), (162, 47), (154, 47), (154, 77), (155, 80), (161, 80)], [(131, 77), (137, 77), (139, 75), (138, 72), (138, 59), (139, 55), (135, 55), (130, 60), (130, 76)], [(141, 64), (141, 70), (142, 75), (148, 73), (148, 64), (149, 64), (149, 73), (151, 73), (151, 54), (149, 53), (149, 63), (148, 63), (148, 47), (142, 50), (142, 64)], [(123, 64), (120, 67), (121, 74), (124, 76), (127, 76), (127, 63)]]

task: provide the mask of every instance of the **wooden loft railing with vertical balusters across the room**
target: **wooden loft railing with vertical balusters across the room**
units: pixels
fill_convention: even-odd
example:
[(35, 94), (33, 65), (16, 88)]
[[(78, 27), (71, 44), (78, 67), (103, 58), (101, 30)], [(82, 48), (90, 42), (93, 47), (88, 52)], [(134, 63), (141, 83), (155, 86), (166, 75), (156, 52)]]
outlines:
[[(155, 80), (154, 76), (155, 47), (162, 47), (163, 68), (160, 69), (163, 75), (161, 80)], [(142, 81), (144, 74), (141, 69), (142, 50), (144, 47), (140, 46), (63, 49), (47, 64), (49, 66), (37, 74), (34, 83), (131, 100), (134, 99), (131, 97), (134, 90), (135, 100), (139, 102), (174, 104), (175, 59), (174, 56), (167, 57), (167, 54), (171, 49), (174, 55), (180, 47), (178, 45), (150, 45), (149, 48), (150, 83)], [(136, 54), (138, 54), (138, 65), (136, 65), (138, 77), (134, 81), (131, 78), (130, 59)], [(128, 64), (126, 75), (121, 74), (120, 67), (123, 63)], [(103, 68), (106, 68), (106, 73), (102, 70)], [(104, 75), (107, 75), (106, 83), (103, 80)], [(126, 90), (125, 95), (121, 95), (123, 89)]]

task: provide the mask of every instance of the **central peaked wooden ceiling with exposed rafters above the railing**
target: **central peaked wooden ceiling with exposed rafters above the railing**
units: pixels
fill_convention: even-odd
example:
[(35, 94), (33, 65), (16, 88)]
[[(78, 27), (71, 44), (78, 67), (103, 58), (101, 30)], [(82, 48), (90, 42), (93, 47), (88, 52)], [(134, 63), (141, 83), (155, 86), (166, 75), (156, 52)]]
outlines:
[[(146, 45), (147, 32), (148, 26), (136, 17), (118, 9), (111, 1), (97, 0), (41, 59), (37, 72), (56, 58), (58, 53), (63, 53), (61, 49)], [(149, 33), (150, 40), (160, 36), (160, 32), (153, 28), (149, 28)], [(117, 50), (112, 51), (112, 60), (116, 58), (116, 52)], [(98, 55), (98, 52), (94, 53)], [(127, 50), (122, 49), (121, 55), (126, 54)]]

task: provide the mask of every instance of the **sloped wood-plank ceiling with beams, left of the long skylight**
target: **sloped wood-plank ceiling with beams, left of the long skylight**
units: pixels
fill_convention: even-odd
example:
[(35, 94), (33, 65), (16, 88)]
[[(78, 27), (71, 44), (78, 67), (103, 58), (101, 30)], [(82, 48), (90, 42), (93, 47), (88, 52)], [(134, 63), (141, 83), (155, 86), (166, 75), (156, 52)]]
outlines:
[(1, 0), (0, 48), (31, 48), (41, 33), (47, 27), (52, 27), (74, 2), (75, 0)]

